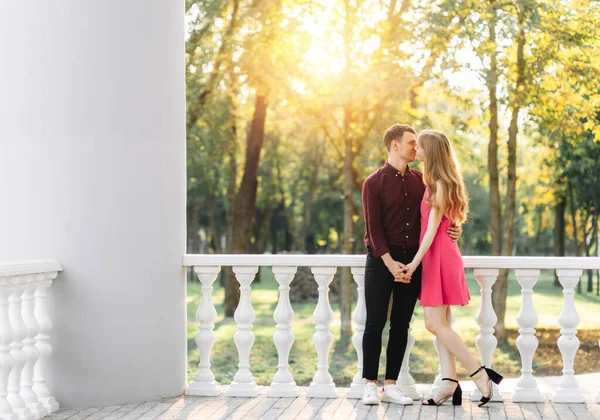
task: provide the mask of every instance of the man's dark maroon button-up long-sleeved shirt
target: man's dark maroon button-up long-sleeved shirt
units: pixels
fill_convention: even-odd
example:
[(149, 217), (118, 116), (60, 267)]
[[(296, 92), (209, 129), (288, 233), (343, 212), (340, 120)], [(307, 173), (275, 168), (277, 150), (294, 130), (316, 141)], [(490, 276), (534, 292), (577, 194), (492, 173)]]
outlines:
[(376, 257), (390, 247), (418, 248), (421, 234), (423, 174), (407, 166), (404, 176), (385, 163), (363, 183), (365, 245)]

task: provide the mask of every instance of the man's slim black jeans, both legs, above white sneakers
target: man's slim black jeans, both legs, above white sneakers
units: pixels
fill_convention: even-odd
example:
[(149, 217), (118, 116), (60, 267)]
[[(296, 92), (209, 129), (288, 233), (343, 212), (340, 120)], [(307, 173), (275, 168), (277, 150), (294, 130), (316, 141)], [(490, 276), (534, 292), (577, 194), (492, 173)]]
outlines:
[[(410, 263), (416, 253), (417, 249), (414, 248), (390, 248), (392, 258), (403, 264)], [(406, 351), (410, 319), (420, 290), (421, 266), (413, 273), (410, 283), (395, 282), (383, 260), (373, 256), (373, 251), (369, 248), (365, 267), (367, 322), (363, 335), (363, 378), (377, 380), (381, 335), (387, 321), (390, 296), (393, 293), (385, 379), (398, 379)]]

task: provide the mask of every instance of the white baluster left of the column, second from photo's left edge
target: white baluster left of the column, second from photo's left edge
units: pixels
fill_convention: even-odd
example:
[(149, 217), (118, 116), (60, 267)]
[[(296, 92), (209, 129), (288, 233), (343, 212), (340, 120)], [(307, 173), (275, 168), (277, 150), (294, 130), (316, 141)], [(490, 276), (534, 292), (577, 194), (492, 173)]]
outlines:
[(25, 401), (21, 398), (21, 374), (23, 367), (27, 362), (27, 353), (23, 351), (23, 340), (27, 337), (27, 328), (23, 322), (23, 292), (27, 288), (26, 282), (28, 276), (13, 277), (13, 288), (10, 297), (8, 298), (8, 318), (13, 330), (13, 340), (10, 343), (10, 354), (15, 361), (15, 364), (10, 371), (8, 377), (8, 395), (6, 399), (22, 420), (35, 419), (34, 414), (25, 405)]

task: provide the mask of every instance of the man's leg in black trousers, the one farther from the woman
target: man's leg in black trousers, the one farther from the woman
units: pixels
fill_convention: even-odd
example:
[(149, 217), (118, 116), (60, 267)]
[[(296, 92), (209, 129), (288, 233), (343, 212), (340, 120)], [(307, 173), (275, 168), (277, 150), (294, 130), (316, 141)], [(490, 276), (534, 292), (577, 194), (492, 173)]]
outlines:
[(393, 276), (378, 257), (367, 257), (365, 267), (365, 303), (367, 320), (363, 334), (363, 378), (377, 382), (381, 334), (387, 321)]

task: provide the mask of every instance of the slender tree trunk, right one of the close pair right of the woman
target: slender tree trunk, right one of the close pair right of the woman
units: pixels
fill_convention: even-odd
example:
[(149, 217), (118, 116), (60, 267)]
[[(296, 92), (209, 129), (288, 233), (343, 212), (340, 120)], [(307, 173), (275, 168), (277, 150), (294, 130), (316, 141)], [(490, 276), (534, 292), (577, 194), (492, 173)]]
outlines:
[[(508, 169), (506, 182), (506, 208), (504, 211), (504, 236), (502, 238), (502, 252), (504, 256), (512, 254), (513, 238), (515, 232), (515, 213), (517, 200), (517, 135), (519, 133), (519, 111), (521, 110), (521, 90), (525, 83), (525, 16), (519, 10), (519, 32), (517, 35), (517, 83), (511, 101), (511, 119), (508, 128)], [(494, 285), (492, 303), (498, 323), (496, 324), (496, 338), (505, 341), (507, 337), (504, 318), (506, 316), (506, 293), (508, 285), (508, 272), (502, 270)]]

